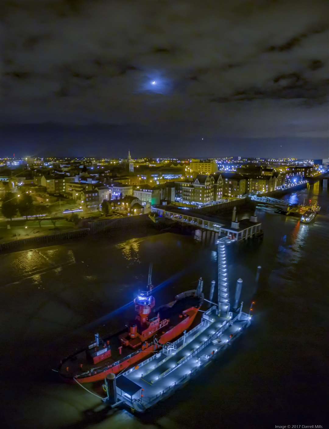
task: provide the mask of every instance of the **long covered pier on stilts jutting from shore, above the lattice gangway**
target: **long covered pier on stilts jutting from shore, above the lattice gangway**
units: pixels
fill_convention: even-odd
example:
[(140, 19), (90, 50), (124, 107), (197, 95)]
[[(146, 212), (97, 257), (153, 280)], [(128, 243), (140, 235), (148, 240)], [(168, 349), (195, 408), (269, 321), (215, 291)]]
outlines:
[(201, 230), (202, 233), (210, 231), (211, 234), (215, 235), (215, 239), (228, 236), (240, 241), (260, 235), (261, 223), (257, 221), (257, 216), (251, 216), (250, 219), (242, 219), (237, 222), (229, 222), (217, 216), (203, 215), (191, 209), (185, 210), (173, 205), (153, 205), (151, 210), (159, 217), (189, 225), (194, 229)]

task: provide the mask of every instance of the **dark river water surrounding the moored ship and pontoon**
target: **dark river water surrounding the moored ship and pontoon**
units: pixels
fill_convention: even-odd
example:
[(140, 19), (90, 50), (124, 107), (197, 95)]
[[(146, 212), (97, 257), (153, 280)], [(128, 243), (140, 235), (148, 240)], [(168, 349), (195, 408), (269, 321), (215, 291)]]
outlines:
[(320, 214), (303, 225), (258, 210), (263, 242), (228, 251), (231, 293), (241, 277), (244, 311), (256, 302), (251, 327), (143, 415), (109, 411), (51, 369), (95, 332), (124, 326), (132, 312), (127, 303), (146, 284), (150, 262), (157, 304), (194, 288), (200, 276), (207, 296), (217, 273), (215, 247), (149, 230), (0, 255), (1, 427), (326, 427), (329, 192), (316, 184), (284, 199), (318, 200)]

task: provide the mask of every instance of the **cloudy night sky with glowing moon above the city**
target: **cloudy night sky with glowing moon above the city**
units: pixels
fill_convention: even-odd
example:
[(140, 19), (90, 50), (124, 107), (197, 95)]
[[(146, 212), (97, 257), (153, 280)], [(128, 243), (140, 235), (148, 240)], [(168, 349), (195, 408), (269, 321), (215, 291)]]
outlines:
[(327, 0), (2, 4), (0, 156), (328, 157)]

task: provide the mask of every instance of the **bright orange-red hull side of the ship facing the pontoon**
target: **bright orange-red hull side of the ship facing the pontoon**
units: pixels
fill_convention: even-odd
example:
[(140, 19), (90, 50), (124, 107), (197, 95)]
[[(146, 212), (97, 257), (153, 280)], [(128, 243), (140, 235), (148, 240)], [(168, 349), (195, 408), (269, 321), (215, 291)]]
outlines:
[[(199, 307), (200, 308), (200, 307)], [(197, 315), (198, 308), (190, 308), (188, 310), (188, 317), (186, 317), (184, 320), (179, 322), (176, 326), (174, 326), (169, 331), (165, 332), (160, 338), (159, 342), (161, 344), (165, 344), (167, 342), (172, 341), (174, 338), (179, 337), (185, 329), (188, 329), (191, 324), (193, 323), (196, 315)], [(95, 381), (103, 381), (106, 375), (110, 374), (111, 372), (114, 374), (119, 374), (119, 372), (123, 372), (126, 369), (128, 369), (130, 366), (140, 362), (141, 360), (147, 359), (147, 357), (154, 352), (154, 345), (151, 345), (147, 347), (144, 350), (139, 351), (139, 353), (136, 353), (134, 356), (131, 356), (127, 360), (124, 360), (123, 362), (119, 363), (118, 365), (112, 366), (109, 369), (106, 369), (105, 371), (87, 376), (87, 377), (77, 377), (76, 380), (79, 383), (94, 383)], [(65, 377), (65, 380), (68, 382), (72, 382), (74, 378), (67, 378)]]

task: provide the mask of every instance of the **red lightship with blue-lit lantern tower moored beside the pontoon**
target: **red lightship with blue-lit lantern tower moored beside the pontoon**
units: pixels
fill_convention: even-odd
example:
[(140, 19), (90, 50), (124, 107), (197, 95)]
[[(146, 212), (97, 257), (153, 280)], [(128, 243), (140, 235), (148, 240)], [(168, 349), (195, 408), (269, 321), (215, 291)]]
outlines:
[(96, 334), (93, 344), (61, 362), (60, 375), (66, 381), (90, 383), (104, 380), (111, 372), (125, 371), (147, 359), (161, 344), (179, 337), (191, 326), (203, 302), (201, 279), (196, 290), (179, 293), (159, 308), (154, 308), (150, 293), (138, 293), (134, 300), (137, 315), (128, 328), (104, 338)]

